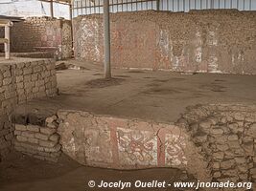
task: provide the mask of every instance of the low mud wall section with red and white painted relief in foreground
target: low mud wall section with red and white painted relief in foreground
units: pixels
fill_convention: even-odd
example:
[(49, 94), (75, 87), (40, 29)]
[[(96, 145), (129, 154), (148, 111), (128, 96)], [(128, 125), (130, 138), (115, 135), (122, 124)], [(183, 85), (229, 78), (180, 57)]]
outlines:
[[(207, 178), (185, 131), (172, 124), (58, 110), (62, 152), (83, 165), (116, 169), (175, 167)], [(199, 154), (198, 154), (199, 155)], [(201, 167), (201, 168), (199, 168)]]

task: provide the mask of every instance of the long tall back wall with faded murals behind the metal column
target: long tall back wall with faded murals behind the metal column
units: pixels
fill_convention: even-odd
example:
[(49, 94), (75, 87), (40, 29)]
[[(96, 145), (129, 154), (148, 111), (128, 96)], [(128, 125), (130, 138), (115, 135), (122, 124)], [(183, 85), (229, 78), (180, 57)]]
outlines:
[[(110, 21), (115, 67), (256, 74), (256, 11), (120, 12)], [(75, 57), (103, 62), (103, 16), (73, 24)]]

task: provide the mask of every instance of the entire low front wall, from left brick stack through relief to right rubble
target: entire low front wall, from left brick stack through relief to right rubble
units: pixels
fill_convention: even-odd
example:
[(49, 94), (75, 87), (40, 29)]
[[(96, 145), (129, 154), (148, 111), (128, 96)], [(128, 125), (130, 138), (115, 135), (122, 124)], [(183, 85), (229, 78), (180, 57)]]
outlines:
[(60, 144), (83, 165), (172, 167), (200, 181), (256, 180), (255, 105), (197, 105), (175, 124), (70, 110), (15, 117), (15, 148), (39, 159), (57, 161)]

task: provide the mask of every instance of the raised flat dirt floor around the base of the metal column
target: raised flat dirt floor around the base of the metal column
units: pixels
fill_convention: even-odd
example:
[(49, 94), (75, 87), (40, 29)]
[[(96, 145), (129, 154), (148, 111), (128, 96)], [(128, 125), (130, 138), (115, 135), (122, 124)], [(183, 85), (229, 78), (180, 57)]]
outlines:
[(113, 79), (105, 80), (103, 67), (74, 60), (63, 66), (76, 70), (58, 71), (59, 96), (32, 101), (34, 109), (75, 109), (172, 123), (191, 105), (256, 103), (256, 75), (113, 70)]

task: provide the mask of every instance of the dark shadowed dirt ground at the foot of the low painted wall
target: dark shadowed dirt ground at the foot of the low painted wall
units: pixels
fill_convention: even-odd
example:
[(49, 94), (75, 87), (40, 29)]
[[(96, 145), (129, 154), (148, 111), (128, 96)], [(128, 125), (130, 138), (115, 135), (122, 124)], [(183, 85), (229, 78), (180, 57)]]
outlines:
[[(177, 180), (193, 180), (190, 176), (177, 169), (146, 169), (133, 171), (119, 171), (85, 167), (76, 161), (62, 156), (58, 163), (51, 163), (32, 159), (19, 153), (12, 153), (8, 159), (0, 163), (1, 191), (105, 191), (120, 190), (107, 188), (90, 188), (89, 180), (100, 184), (101, 180), (152, 181), (173, 182)], [(145, 190), (128, 188), (125, 190)], [(146, 189), (152, 191), (175, 190), (172, 187)]]

